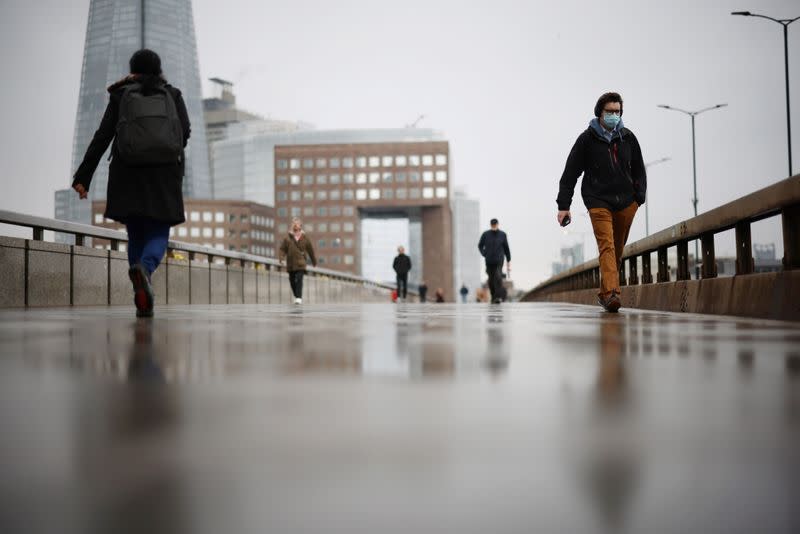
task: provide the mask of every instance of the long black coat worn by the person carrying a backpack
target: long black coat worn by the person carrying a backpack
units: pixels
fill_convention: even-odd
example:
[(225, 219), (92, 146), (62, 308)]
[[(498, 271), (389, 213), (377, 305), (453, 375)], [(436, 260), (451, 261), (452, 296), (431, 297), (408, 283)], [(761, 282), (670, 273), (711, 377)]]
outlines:
[[(73, 186), (82, 184), (87, 190), (89, 189), (94, 171), (116, 135), (119, 104), (125, 87), (132, 83), (145, 81), (148, 81), (146, 77), (131, 75), (108, 88), (110, 98), (106, 112), (92, 142), (89, 143), (89, 148), (86, 149), (83, 162), (75, 172)], [(171, 85), (166, 87), (175, 100), (178, 117), (183, 126), (184, 146), (186, 146), (191, 134), (186, 104), (180, 90)], [(140, 217), (170, 225), (184, 222), (182, 194), (184, 158), (181, 157), (180, 161), (176, 161), (174, 165), (129, 167), (122, 163), (116, 152), (115, 144), (111, 147), (111, 163), (108, 167), (105, 216), (121, 223), (125, 223), (130, 218)]]

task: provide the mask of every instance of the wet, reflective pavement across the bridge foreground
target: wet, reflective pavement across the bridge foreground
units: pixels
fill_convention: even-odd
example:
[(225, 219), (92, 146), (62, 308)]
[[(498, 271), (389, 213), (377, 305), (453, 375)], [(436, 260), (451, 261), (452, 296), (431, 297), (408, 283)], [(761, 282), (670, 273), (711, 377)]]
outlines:
[(800, 532), (800, 325), (0, 310), (0, 532)]

